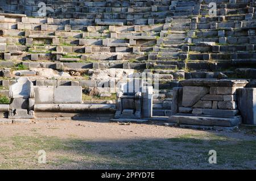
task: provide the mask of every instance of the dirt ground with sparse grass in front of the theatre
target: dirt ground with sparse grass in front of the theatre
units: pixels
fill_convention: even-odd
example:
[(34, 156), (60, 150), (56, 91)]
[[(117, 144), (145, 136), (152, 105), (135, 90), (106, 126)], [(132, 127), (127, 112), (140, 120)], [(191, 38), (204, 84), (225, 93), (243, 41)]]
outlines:
[[(39, 150), (46, 163), (39, 163)], [(209, 150), (217, 163), (209, 164)], [(0, 169), (256, 169), (256, 127), (38, 121), (0, 125)]]

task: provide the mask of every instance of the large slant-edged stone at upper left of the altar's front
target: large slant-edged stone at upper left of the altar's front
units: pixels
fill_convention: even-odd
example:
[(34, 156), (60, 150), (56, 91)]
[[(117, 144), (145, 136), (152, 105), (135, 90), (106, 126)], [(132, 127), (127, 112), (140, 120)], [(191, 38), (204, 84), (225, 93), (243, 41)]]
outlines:
[(209, 87), (195, 87), (195, 86), (184, 86), (183, 87), (183, 107), (192, 107), (197, 103), (203, 96), (209, 93)]

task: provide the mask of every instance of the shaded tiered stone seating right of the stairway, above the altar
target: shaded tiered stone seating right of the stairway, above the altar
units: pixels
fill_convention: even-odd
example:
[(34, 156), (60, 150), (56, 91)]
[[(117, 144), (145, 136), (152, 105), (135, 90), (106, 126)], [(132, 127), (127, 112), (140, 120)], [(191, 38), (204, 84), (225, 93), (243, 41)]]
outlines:
[(202, 66), (207, 70), (255, 65), (255, 5), (253, 1), (220, 1), (216, 16), (209, 16), (209, 7), (201, 5), (182, 48), (188, 54), (182, 57), (209, 63)]

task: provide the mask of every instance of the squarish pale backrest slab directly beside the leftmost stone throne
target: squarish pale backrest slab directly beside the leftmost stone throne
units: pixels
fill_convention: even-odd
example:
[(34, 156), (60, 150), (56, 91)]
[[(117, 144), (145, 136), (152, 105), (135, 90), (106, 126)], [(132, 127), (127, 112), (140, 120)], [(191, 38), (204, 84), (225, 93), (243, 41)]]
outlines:
[(55, 86), (35, 86), (35, 104), (53, 104)]

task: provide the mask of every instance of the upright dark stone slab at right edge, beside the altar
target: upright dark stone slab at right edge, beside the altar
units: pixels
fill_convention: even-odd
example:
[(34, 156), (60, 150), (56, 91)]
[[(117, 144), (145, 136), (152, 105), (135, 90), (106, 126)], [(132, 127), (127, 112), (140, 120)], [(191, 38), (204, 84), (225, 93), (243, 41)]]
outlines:
[(256, 125), (256, 89), (244, 88), (237, 90), (238, 109), (243, 123)]

